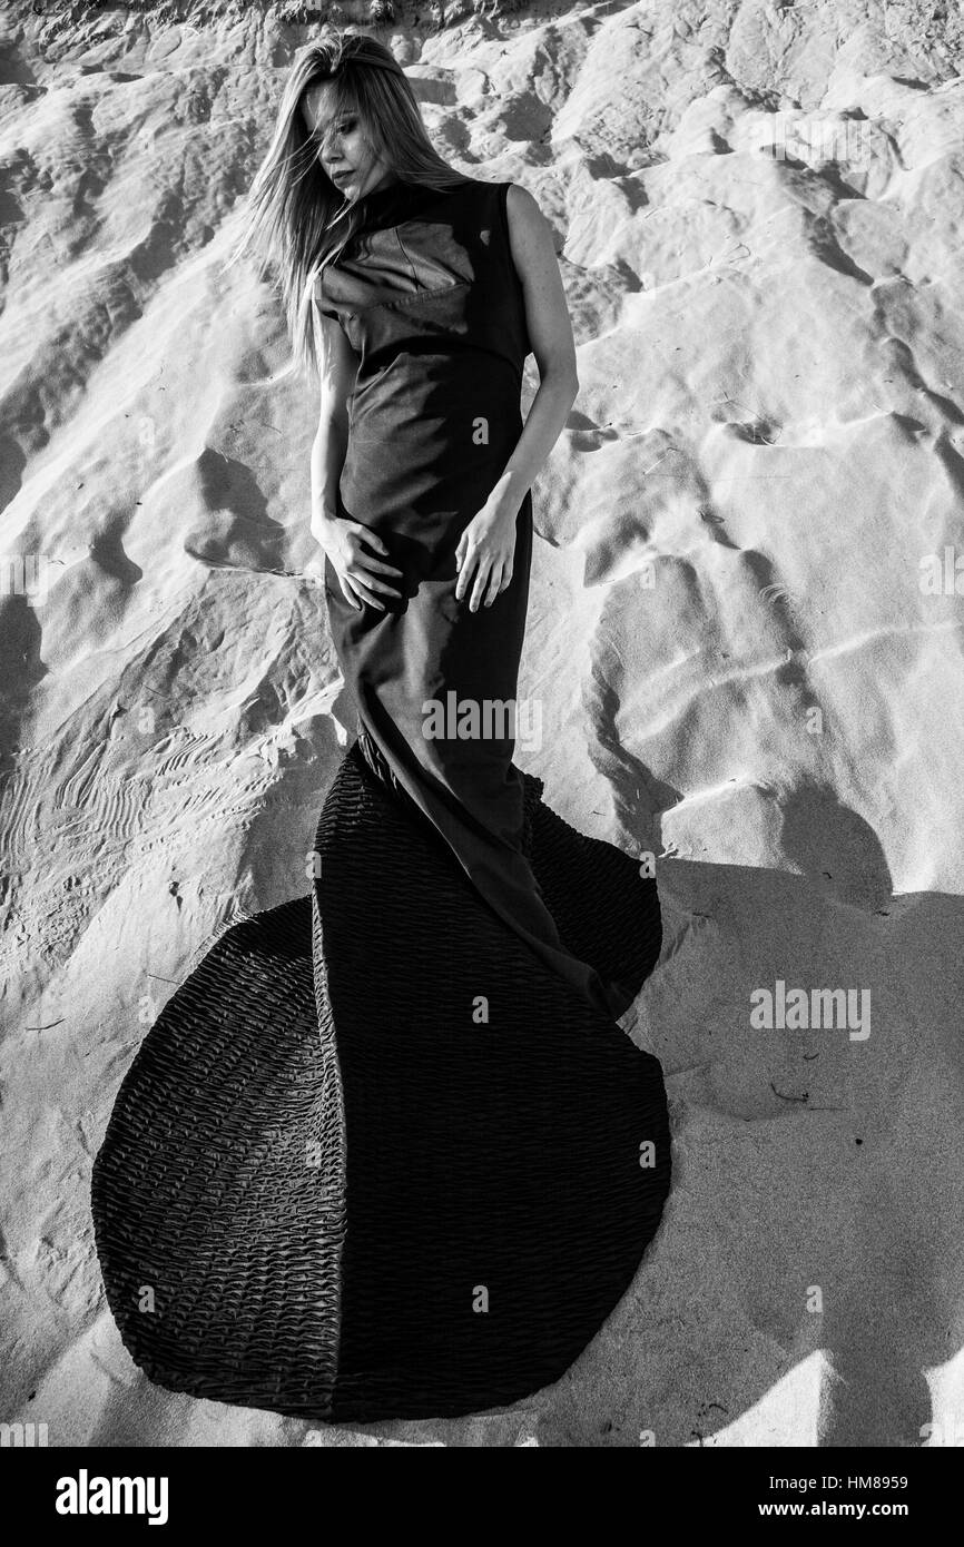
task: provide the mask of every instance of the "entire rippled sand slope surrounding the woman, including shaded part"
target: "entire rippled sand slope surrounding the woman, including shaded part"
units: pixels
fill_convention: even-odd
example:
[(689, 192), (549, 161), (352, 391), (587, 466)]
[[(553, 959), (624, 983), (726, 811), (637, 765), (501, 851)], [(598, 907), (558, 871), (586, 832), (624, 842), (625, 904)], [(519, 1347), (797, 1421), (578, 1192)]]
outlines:
[[(534, 490), (525, 766), (568, 821), (658, 855), (667, 936), (628, 1024), (667, 1074), (675, 1191), (617, 1313), (503, 1414), (311, 1429), (173, 1397), (119, 1344), (88, 1217), (118, 1084), (214, 933), (306, 891), (351, 733), (303, 574), (314, 402), (271, 288), (223, 271), (309, 29), (15, 0), (0, 1417), (51, 1445), (950, 1434), (961, 23), (911, 0), (398, 12), (439, 150), (557, 232), (582, 388)], [(778, 982), (870, 990), (868, 1035), (755, 1026)]]

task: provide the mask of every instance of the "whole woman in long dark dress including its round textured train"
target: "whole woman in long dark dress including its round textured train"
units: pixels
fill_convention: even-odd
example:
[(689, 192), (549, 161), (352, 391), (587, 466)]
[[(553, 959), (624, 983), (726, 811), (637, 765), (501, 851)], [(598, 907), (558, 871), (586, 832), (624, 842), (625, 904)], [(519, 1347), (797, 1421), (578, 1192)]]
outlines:
[[(313, 532), (359, 736), (319, 823), (311, 939), (296, 905), (258, 914), (138, 1054), (97, 1248), (161, 1385), (333, 1422), (469, 1412), (562, 1375), (668, 1188), (659, 1064), (614, 1024), (659, 953), (655, 883), (542, 804), (486, 709), (515, 702), (529, 489), (576, 396), (573, 333), (532, 196), (450, 169), (373, 39), (300, 53), (249, 213), (241, 249), (274, 254), (320, 379)], [(229, 1091), (198, 1077), (221, 1046)], [(138, 1111), (172, 1080), (159, 1187)], [(184, 1233), (176, 1316), (135, 1316), (130, 1286), (170, 1276)]]

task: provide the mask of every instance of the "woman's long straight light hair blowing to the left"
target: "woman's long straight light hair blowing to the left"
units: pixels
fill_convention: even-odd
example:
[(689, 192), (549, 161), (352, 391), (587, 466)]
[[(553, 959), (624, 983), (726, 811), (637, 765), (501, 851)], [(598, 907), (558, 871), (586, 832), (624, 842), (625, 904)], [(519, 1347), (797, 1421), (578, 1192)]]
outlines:
[(399, 181), (433, 189), (467, 181), (432, 145), (412, 85), (384, 43), (364, 32), (334, 31), (299, 50), (271, 147), (248, 195), (241, 235), (224, 268), (248, 252), (255, 254), (262, 277), (275, 266), (291, 336), (291, 370), (300, 367), (309, 377), (320, 368), (311, 308), (316, 282), (364, 223), (359, 201), (345, 201), (322, 170), (302, 116), (305, 93), (322, 80), (334, 85), (336, 111), (357, 114), (365, 145), (388, 162)]

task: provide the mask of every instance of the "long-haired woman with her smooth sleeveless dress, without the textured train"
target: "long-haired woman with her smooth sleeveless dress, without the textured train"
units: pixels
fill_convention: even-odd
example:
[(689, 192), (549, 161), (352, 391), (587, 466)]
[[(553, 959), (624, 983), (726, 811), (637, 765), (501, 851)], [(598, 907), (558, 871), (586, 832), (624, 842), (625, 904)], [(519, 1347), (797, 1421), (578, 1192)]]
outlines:
[(512, 763), (529, 487), (579, 390), (551, 227), (525, 189), (447, 167), (404, 71), (364, 36), (302, 56), (272, 149), (251, 235), (280, 229), (296, 348), (320, 360), (313, 532), (362, 752), (500, 917), (617, 1016), (634, 985), (562, 945)]

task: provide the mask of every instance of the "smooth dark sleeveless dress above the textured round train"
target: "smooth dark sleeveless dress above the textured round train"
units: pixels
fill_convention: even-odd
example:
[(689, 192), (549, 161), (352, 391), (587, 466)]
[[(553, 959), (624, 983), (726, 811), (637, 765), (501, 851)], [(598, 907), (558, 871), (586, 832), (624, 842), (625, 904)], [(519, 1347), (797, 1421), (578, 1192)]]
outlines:
[[(486, 903), (593, 1006), (619, 1016), (634, 985), (603, 982), (565, 948), (523, 855), (512, 721), (492, 707), (518, 702), (531, 493), (515, 523), (511, 585), (477, 613), (469, 593), (455, 599), (458, 540), (523, 429), (529, 337), (509, 187), (475, 178), (444, 192), (382, 186), (365, 196), (351, 251), (322, 272), (319, 311), (359, 356), (339, 514), (378, 532), (404, 575), (401, 600), (359, 613), (326, 560), (325, 594), (371, 764), (429, 817)], [(458, 733), (460, 721), (473, 729), (470, 705), (487, 733)], [(439, 726), (444, 735), (427, 735)]]

